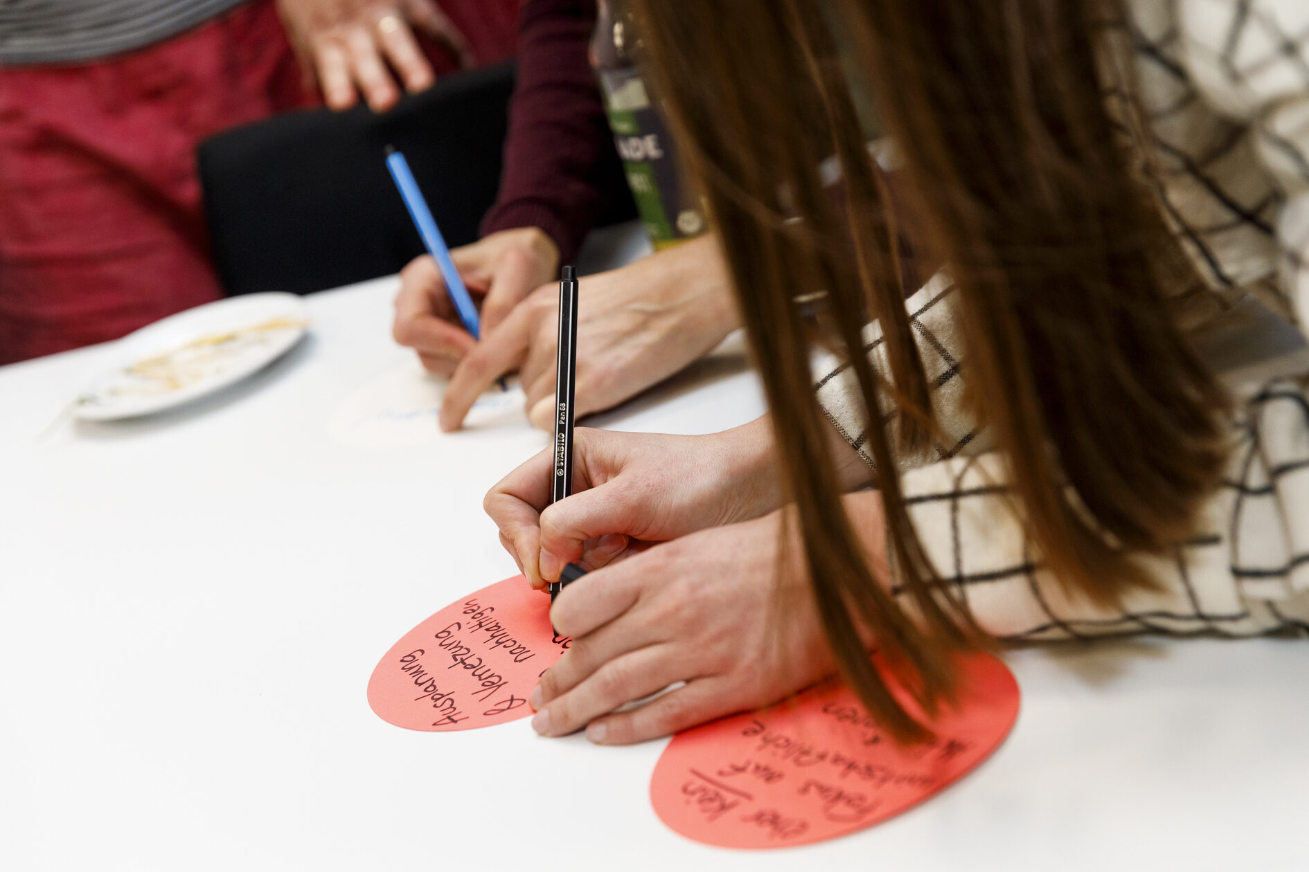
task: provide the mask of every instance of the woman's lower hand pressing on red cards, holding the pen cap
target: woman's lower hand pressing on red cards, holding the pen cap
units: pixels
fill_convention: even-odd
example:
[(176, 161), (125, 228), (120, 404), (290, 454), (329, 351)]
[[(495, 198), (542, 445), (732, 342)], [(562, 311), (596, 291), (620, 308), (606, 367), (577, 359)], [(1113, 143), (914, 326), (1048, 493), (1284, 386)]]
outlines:
[[(572, 645), (528, 698), (533, 729), (644, 741), (770, 705), (833, 672), (783, 518), (692, 533), (569, 584), (550, 617)], [(678, 681), (686, 685), (611, 714)]]

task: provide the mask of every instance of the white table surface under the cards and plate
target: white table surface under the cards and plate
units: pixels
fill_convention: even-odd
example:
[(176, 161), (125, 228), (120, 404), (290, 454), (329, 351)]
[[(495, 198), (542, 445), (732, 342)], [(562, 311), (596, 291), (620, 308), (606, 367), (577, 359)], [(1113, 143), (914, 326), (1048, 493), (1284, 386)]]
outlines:
[[(364, 692), (387, 647), (516, 573), (482, 495), (546, 444), (521, 416), (390, 450), (329, 437), (407, 360), (394, 289), (310, 297), (287, 358), (154, 418), (38, 441), (102, 349), (0, 369), (0, 868), (1309, 869), (1300, 639), (1016, 651), (1017, 726), (974, 774), (770, 852), (660, 824), (664, 740), (382, 722)], [(762, 407), (737, 346), (593, 424), (700, 433)]]

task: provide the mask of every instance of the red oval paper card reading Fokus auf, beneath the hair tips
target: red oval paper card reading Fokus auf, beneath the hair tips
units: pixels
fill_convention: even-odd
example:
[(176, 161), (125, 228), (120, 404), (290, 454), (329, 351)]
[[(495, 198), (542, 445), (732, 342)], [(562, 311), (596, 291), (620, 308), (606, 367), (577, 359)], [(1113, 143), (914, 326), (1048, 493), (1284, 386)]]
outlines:
[(651, 779), (654, 811), (687, 838), (737, 848), (819, 842), (898, 814), (986, 760), (1018, 716), (1003, 663), (977, 654), (961, 668), (959, 705), (925, 745), (897, 745), (839, 685), (678, 733)]

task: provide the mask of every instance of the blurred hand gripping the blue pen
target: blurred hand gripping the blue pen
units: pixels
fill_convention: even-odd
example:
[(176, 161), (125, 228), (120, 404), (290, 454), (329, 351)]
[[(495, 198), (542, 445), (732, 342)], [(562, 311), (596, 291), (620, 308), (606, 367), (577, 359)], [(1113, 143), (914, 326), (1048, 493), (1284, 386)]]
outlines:
[[(537, 227), (492, 233), (450, 252), (463, 284), (482, 301), (482, 335), (522, 302), (534, 288), (559, 272), (559, 248)], [(449, 378), (459, 360), (476, 346), (463, 329), (445, 290), (436, 261), (415, 258), (401, 272), (395, 295), (395, 341), (418, 352), (423, 366)]]

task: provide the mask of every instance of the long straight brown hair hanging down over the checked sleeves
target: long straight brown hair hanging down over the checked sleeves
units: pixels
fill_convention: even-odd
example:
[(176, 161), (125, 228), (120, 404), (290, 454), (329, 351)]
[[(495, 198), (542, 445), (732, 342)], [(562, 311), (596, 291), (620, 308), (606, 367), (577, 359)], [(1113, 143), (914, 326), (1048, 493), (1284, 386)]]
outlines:
[[(957, 285), (970, 403), (1007, 454), (1031, 541), (1071, 592), (1114, 603), (1149, 583), (1134, 554), (1192, 531), (1225, 454), (1225, 399), (1169, 307), (1172, 285), (1195, 273), (1134, 171), (1130, 119), (1106, 109), (1100, 39), (1122, 33), (1123, 10), (1110, 0), (628, 3), (721, 238), (833, 651), (888, 728), (922, 737), (857, 625), (928, 713), (953, 689), (952, 651), (980, 634), (937, 578), (894, 475), (936, 422), (897, 220), (851, 82), (898, 144), (910, 207)], [(853, 69), (834, 33), (856, 48)], [(833, 156), (840, 197), (819, 175)], [(814, 289), (827, 292), (859, 380), (907, 601), (877, 582), (840, 507), (793, 301)], [(889, 380), (861, 348), (872, 320)]]

